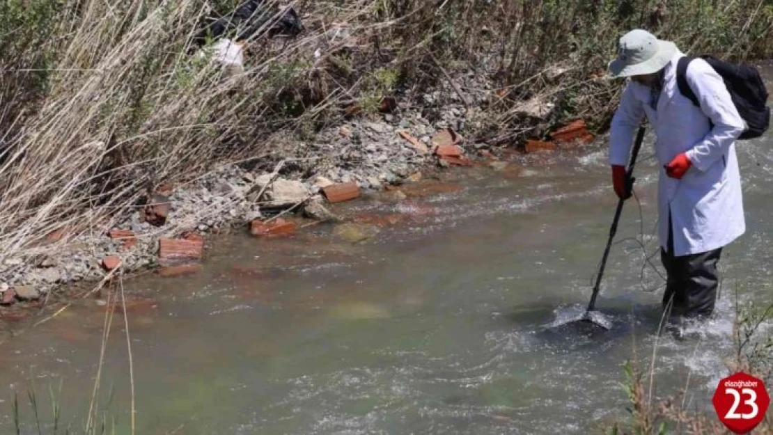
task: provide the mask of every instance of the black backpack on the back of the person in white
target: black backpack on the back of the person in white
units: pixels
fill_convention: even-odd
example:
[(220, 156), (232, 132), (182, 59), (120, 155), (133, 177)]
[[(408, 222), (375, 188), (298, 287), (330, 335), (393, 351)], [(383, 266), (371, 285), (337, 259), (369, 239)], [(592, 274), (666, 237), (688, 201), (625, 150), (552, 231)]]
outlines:
[[(768, 102), (768, 90), (765, 89), (765, 83), (762, 81), (759, 71), (754, 66), (725, 62), (713, 56), (705, 55), (700, 56), (700, 58), (709, 63), (714, 71), (722, 76), (738, 114), (741, 114), (741, 117), (746, 121), (747, 128), (738, 139), (759, 138), (765, 131), (768, 131), (771, 110), (765, 105)], [(687, 83), (685, 75), (687, 65), (693, 59), (695, 58), (688, 56), (679, 59), (679, 63), (676, 64), (676, 83), (679, 86), (679, 92), (700, 107), (698, 98)]]

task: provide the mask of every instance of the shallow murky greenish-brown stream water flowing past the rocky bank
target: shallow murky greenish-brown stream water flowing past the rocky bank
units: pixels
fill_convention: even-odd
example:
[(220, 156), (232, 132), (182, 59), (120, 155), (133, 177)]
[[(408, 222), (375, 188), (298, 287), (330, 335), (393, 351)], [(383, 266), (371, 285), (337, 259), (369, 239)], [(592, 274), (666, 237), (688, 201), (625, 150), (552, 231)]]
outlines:
[(717, 317), (683, 340), (657, 335), (648, 138), (597, 302), (611, 331), (559, 325), (591, 296), (615, 210), (605, 151), (518, 173), (468, 169), (434, 195), (344, 206), (361, 227), (223, 236), (199, 274), (125, 281), (133, 373), (120, 312), (100, 365), (94, 299), (6, 340), (2, 433), (13, 432), (13, 392), (23, 433), (37, 433), (33, 386), (44, 433), (49, 389), (60, 428), (82, 427), (98, 371), (97, 403), (117, 433), (128, 433), (130, 375), (136, 433), (601, 433), (628, 416), (621, 364), (634, 357), (654, 369), (656, 397), (686, 386), (693, 409), (710, 410), (737, 301), (770, 301), (771, 148), (770, 137), (738, 146), (747, 233), (720, 263)]

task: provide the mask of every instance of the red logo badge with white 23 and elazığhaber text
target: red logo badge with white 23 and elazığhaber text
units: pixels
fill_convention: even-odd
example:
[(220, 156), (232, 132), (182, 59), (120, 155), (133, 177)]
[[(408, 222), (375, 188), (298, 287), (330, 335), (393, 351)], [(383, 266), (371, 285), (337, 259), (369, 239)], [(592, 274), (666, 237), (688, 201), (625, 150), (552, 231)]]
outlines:
[(727, 429), (749, 433), (764, 419), (771, 398), (761, 379), (737, 372), (720, 380), (711, 402)]

